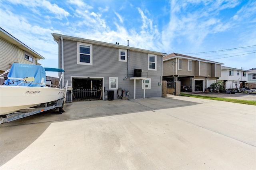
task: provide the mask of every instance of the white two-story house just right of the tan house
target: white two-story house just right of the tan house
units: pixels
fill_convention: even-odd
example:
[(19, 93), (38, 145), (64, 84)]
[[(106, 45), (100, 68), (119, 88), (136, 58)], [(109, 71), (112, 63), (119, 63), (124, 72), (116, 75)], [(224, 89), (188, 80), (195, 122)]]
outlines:
[(232, 67), (221, 66), (221, 77), (226, 89), (245, 87), (248, 71)]

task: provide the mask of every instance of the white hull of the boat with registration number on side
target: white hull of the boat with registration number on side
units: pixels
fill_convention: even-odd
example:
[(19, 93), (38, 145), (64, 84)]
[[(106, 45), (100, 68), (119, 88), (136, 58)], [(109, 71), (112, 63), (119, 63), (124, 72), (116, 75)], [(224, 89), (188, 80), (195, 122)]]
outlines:
[(52, 87), (0, 86), (0, 115), (64, 98), (65, 90)]

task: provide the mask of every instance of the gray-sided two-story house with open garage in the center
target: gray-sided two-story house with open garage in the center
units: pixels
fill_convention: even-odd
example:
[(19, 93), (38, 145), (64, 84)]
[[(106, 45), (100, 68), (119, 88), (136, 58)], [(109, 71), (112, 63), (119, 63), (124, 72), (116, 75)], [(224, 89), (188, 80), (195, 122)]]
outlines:
[(107, 91), (114, 91), (114, 99), (118, 99), (121, 89), (133, 99), (162, 96), (163, 53), (55, 33), (52, 36), (59, 46), (59, 68), (65, 70), (62, 84), (69, 81), (73, 99), (92, 93), (82, 98), (104, 100)]

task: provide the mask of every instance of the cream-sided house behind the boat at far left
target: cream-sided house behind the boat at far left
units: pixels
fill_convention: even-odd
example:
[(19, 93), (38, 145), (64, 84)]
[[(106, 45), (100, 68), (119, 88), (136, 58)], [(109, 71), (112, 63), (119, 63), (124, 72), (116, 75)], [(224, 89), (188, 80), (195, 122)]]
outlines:
[(39, 59), (44, 57), (0, 28), (0, 73), (10, 69), (12, 63), (40, 65)]

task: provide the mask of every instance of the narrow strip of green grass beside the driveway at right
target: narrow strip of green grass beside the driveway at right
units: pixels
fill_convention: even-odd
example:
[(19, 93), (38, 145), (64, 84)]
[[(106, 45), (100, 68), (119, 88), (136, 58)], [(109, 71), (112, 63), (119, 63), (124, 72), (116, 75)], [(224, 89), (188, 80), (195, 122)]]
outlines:
[(190, 94), (184, 94), (184, 93), (180, 93), (180, 95), (181, 96), (188, 96), (188, 97), (196, 97), (196, 98), (201, 98), (201, 99), (211, 99), (211, 100), (217, 100), (217, 101), (227, 101), (227, 102), (233, 102), (233, 103), (241, 103), (241, 104), (246, 104), (246, 105), (256, 105), (256, 101), (226, 99), (226, 98), (220, 98), (220, 97), (190, 95)]

